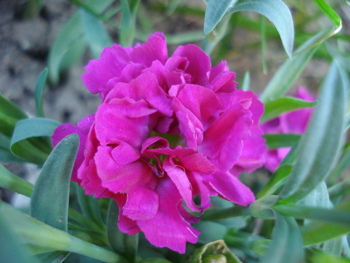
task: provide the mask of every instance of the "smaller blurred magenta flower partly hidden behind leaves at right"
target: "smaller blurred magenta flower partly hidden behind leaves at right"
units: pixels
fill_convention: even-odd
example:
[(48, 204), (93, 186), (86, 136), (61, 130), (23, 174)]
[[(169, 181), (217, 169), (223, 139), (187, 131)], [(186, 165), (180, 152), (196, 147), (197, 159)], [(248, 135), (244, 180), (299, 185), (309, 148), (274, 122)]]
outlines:
[[(306, 88), (299, 87), (293, 97), (304, 100), (314, 101), (315, 96), (311, 95)], [(277, 118), (269, 120), (261, 124), (264, 134), (274, 133), (293, 133), (303, 134), (306, 131), (307, 123), (311, 117), (313, 109), (305, 108), (288, 113), (281, 114)], [(265, 152), (265, 167), (274, 172), (281, 160), (287, 155), (290, 147), (281, 147), (278, 149), (271, 149)]]

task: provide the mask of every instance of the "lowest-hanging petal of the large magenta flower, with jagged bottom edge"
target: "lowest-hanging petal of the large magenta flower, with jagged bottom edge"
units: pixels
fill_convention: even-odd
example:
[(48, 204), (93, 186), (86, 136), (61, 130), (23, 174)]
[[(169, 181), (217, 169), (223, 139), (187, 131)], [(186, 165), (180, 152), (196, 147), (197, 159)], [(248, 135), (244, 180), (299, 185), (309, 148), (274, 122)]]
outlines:
[(159, 196), (157, 214), (149, 220), (137, 220), (137, 225), (151, 244), (184, 253), (186, 241), (197, 242), (200, 232), (181, 216), (177, 208), (181, 196), (169, 178), (163, 177), (155, 191)]

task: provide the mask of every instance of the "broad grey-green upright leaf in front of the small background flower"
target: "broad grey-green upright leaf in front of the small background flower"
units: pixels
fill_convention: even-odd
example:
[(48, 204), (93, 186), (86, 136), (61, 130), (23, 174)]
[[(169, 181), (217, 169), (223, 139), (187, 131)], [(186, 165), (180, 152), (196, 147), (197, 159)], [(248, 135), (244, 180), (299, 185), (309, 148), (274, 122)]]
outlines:
[(348, 81), (345, 74), (336, 63), (332, 63), (309, 128), (301, 137), (295, 165), (281, 190), (283, 202), (296, 202), (312, 191), (328, 174), (339, 155), (347, 108)]

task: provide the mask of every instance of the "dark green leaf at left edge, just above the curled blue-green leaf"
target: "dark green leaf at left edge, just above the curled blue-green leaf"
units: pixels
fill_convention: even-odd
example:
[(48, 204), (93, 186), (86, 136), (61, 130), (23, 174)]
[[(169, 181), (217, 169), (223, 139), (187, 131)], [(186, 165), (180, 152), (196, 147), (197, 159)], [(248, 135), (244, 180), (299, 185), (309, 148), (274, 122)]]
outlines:
[(28, 118), (22, 110), (0, 94), (0, 132), (5, 136), (12, 135), (18, 120)]

